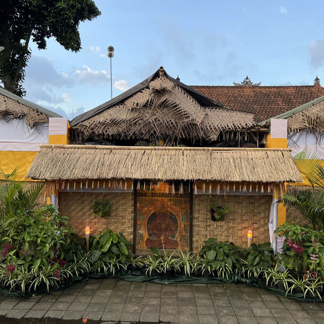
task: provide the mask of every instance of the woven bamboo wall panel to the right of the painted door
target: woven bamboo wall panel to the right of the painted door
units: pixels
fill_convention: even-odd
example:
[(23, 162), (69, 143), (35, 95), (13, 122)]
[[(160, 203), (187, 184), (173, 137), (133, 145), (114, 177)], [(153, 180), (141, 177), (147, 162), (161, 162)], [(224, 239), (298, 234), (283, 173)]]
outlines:
[[(248, 230), (253, 230), (254, 243), (269, 241), (268, 222), (272, 197), (264, 196), (224, 196), (196, 195), (193, 198), (193, 252), (199, 252), (204, 240), (216, 237), (219, 241), (228, 240), (234, 244), (246, 247)], [(219, 205), (226, 204), (231, 209), (225, 215), (224, 221), (211, 220), (211, 201)]]

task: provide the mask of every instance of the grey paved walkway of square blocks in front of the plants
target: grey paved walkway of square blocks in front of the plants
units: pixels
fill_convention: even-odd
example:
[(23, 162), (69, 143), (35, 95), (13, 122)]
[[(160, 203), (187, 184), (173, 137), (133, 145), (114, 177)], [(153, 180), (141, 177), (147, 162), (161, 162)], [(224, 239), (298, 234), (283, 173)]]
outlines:
[(0, 301), (0, 315), (15, 318), (88, 318), (98, 323), (324, 324), (324, 303), (297, 302), (244, 285), (159, 285), (91, 279), (42, 297), (0, 296)]

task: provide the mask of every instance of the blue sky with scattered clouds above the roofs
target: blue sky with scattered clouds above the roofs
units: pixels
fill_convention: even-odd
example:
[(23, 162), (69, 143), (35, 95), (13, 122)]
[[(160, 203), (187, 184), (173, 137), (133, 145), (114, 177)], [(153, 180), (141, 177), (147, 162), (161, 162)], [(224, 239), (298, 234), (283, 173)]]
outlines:
[(187, 85), (324, 84), (321, 1), (95, 0), (102, 15), (80, 24), (83, 49), (55, 39), (31, 45), (26, 99), (69, 119), (138, 84), (163, 65)]

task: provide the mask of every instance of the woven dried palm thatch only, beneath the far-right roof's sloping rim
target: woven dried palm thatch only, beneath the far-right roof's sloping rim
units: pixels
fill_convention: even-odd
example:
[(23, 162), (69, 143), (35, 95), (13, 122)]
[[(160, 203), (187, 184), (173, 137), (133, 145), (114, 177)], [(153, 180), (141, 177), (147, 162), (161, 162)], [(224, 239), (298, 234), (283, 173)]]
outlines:
[(298, 133), (302, 130), (324, 132), (324, 101), (320, 101), (287, 118), (288, 130)]

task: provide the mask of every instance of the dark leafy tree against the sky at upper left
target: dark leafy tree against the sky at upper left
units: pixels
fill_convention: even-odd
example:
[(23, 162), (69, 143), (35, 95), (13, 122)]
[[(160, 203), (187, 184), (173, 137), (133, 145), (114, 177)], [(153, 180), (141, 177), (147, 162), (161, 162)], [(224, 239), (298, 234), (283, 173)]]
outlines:
[(66, 50), (81, 49), (79, 23), (100, 15), (93, 0), (3, 0), (0, 6), (0, 79), (5, 88), (25, 95), (22, 84), (31, 56), (29, 42), (46, 49), (54, 37)]

